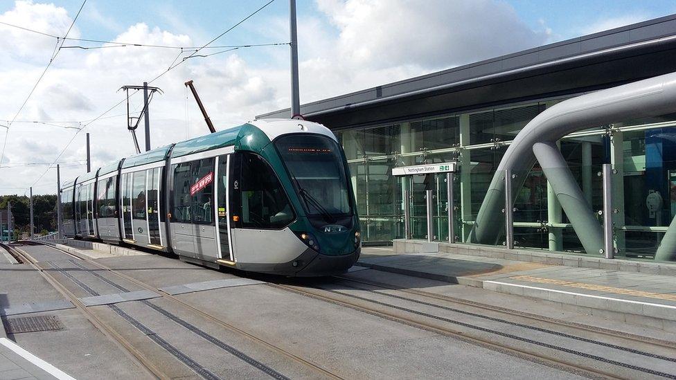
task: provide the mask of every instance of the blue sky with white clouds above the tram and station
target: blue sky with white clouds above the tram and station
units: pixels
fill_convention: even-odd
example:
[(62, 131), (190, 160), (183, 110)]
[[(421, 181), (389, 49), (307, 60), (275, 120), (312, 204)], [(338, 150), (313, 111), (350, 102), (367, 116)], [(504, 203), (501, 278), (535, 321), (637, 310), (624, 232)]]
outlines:
[[(73, 24), (82, 0), (0, 0), (0, 23), (59, 37), (73, 24), (67, 37), (118, 43), (0, 24), (0, 194), (55, 193), (55, 162), (62, 181), (85, 172), (87, 132), (93, 168), (134, 154), (124, 85), (159, 76), (150, 84), (163, 90), (150, 105), (152, 147), (208, 132), (187, 80), (216, 129), (290, 107), (289, 2), (267, 1), (87, 0)], [(297, 8), (305, 103), (670, 15), (676, 0), (297, 0)], [(254, 44), (281, 45), (218, 47)], [(142, 107), (132, 95), (132, 115)], [(143, 123), (138, 136), (143, 149)]]

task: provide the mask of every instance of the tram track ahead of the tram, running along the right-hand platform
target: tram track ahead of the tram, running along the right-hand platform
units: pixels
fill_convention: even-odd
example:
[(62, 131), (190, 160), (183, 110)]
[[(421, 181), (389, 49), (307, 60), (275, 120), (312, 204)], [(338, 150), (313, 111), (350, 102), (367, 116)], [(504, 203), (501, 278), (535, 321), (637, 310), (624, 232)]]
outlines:
[[(341, 280), (343, 279), (347, 281), (353, 281), (353, 279), (351, 278), (341, 278)], [(356, 282), (359, 282), (359, 280), (357, 280)], [(563, 347), (562, 345), (554, 345), (551, 343), (546, 343), (546, 341), (539, 341), (537, 339), (527, 338), (519, 334), (504, 332), (494, 328), (483, 327), (479, 323), (465, 323), (461, 322), (460, 320), (439, 316), (438, 314), (429, 311), (420, 311), (420, 309), (414, 309), (413, 307), (402, 307), (400, 305), (395, 305), (391, 302), (383, 302), (382, 300), (374, 300), (372, 298), (364, 296), (357, 296), (355, 294), (346, 293), (345, 291), (342, 290), (326, 289), (326, 287), (312, 287), (308, 289), (306, 287), (299, 287), (288, 284), (270, 284), (270, 285), (287, 291), (293, 291), (303, 296), (309, 296), (311, 298), (324, 300), (326, 302), (331, 302), (337, 305), (350, 307), (351, 309), (356, 309), (366, 314), (371, 314), (374, 316), (385, 318), (387, 320), (394, 320), (396, 322), (403, 323), (405, 325), (411, 325), (413, 327), (419, 327), (421, 329), (426, 329), (431, 332), (437, 332), (445, 336), (459, 338), (463, 341), (470, 341), (470, 343), (478, 344), (483, 347), (488, 347), (493, 350), (506, 352), (508, 354), (513, 354), (515, 356), (519, 356), (525, 359), (531, 359), (538, 363), (544, 363), (546, 365), (552, 366), (553, 368), (562, 368), (564, 370), (569, 370), (570, 372), (574, 373), (580, 373), (581, 371), (582, 374), (588, 377), (622, 378), (624, 375), (622, 373), (618, 374), (618, 372), (612, 372), (609, 370), (601, 370), (596, 365), (589, 364), (583, 365), (580, 364), (578, 361), (562, 360), (559, 357), (556, 357), (551, 354), (550, 355), (543, 354), (542, 351), (540, 350), (528, 349), (528, 346), (542, 348), (545, 350), (551, 350), (552, 352), (560, 352), (576, 356), (579, 358), (584, 358), (587, 361), (596, 361), (598, 363), (603, 363), (604, 365), (610, 365), (611, 367), (621, 368), (620, 372), (630, 370), (634, 371), (634, 373), (636, 374), (641, 374), (641, 376), (652, 375), (655, 377), (676, 379), (676, 374), (662, 372), (659, 370), (653, 370), (651, 368), (644, 368), (641, 367), (640, 365), (623, 363), (622, 361), (607, 359), (597, 354), (590, 354), (589, 352), (572, 350), (571, 348)], [(350, 287), (350, 288), (355, 289), (357, 291), (364, 291), (366, 293), (373, 293), (373, 289), (364, 289), (362, 287)], [(390, 290), (400, 290), (400, 289), (390, 289)], [(420, 302), (419, 300), (413, 300), (407, 297), (391, 295), (389, 293), (378, 292), (377, 294), (386, 297), (391, 296), (404, 302), (413, 302), (418, 305), (423, 305), (425, 307), (432, 307), (436, 310), (452, 311), (452, 312), (459, 311), (458, 309), (452, 309), (449, 307), (445, 307), (443, 305), (432, 304), (430, 302)], [(474, 313), (470, 314), (469, 316), (472, 318), (485, 317)], [(488, 318), (492, 322), (506, 323), (511, 327), (519, 327), (521, 329), (529, 327), (528, 325), (524, 325), (522, 323), (513, 323), (508, 320), (502, 320), (499, 318), (492, 317)], [(449, 325), (454, 325), (460, 328), (452, 328), (449, 327)], [(584, 338), (582, 336), (563, 334), (560, 332), (555, 332), (550, 329), (542, 329), (540, 327), (535, 327), (531, 329), (535, 329), (537, 332), (552, 334), (554, 336), (559, 336), (562, 338), (576, 339), (578, 341), (582, 341), (585, 343), (600, 345), (611, 350), (619, 350), (627, 352), (629, 354), (646, 356), (649, 357), (650, 359), (666, 361), (669, 363), (676, 362), (676, 359), (670, 356), (652, 354), (650, 352), (641, 352), (640, 350), (634, 350), (630, 347), (622, 347), (619, 345), (607, 344), (600, 341), (594, 341), (589, 338)], [(474, 332), (477, 332), (478, 334), (474, 334)], [(493, 338), (495, 336), (502, 338), (503, 341), (499, 341), (499, 339)], [(620, 338), (620, 336), (614, 337)], [(512, 344), (513, 342), (517, 342), (518, 344)], [(519, 347), (519, 345), (525, 345), (526, 348)], [(664, 348), (664, 346), (660, 347)], [(672, 347), (670, 347), (669, 345), (668, 348)]]

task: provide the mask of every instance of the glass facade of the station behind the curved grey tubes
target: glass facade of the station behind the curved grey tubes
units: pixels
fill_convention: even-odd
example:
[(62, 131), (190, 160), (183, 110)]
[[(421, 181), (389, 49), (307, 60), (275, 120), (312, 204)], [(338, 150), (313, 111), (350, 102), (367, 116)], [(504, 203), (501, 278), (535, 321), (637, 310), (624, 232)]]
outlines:
[[(394, 177), (392, 168), (450, 161), (457, 161), (459, 168), (452, 183), (454, 233), (456, 241), (468, 242), (508, 145), (529, 121), (560, 100), (335, 131), (348, 159), (364, 242), (387, 244), (404, 237), (404, 201), (411, 206), (411, 237), (427, 238), (425, 190), (434, 194), (433, 239), (447, 240), (445, 174)], [(598, 174), (604, 163), (617, 171), (612, 190), (616, 257), (676, 260), (675, 253), (658, 253), (676, 216), (676, 114), (590, 126), (558, 143), (600, 225), (603, 185)], [(404, 200), (406, 190), (411, 199)], [(585, 252), (539, 164), (514, 192), (516, 246), (601, 256)]]

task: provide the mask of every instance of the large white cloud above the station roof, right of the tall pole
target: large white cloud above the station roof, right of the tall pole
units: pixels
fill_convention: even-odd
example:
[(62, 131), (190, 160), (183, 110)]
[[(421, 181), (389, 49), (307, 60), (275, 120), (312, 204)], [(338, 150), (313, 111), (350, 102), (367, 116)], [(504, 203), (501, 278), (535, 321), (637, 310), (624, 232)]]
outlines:
[(506, 3), (492, 0), (318, 0), (340, 30), (338, 53), (355, 64), (456, 66), (539, 46)]

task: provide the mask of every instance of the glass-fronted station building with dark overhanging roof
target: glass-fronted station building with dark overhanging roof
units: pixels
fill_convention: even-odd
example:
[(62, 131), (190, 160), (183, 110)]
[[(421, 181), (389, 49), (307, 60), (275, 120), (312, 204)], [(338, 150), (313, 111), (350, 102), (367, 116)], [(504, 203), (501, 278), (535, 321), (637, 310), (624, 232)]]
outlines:
[[(569, 39), (301, 106), (344, 147), (364, 244), (427, 238), (425, 190), (434, 190), (434, 236), (448, 238), (445, 175), (395, 177), (392, 169), (457, 162), (458, 242), (470, 230), (508, 145), (537, 114), (562, 100), (676, 71), (676, 15)], [(290, 109), (258, 118), (288, 118)], [(618, 171), (613, 190), (616, 257), (654, 259), (676, 216), (676, 114), (617, 120), (565, 136), (560, 150), (592, 210), (603, 205), (601, 165)], [(621, 182), (621, 183), (617, 183)], [(551, 190), (551, 189), (550, 189)], [(515, 189), (516, 246), (585, 252), (536, 163)], [(601, 220), (601, 217), (599, 217)]]

